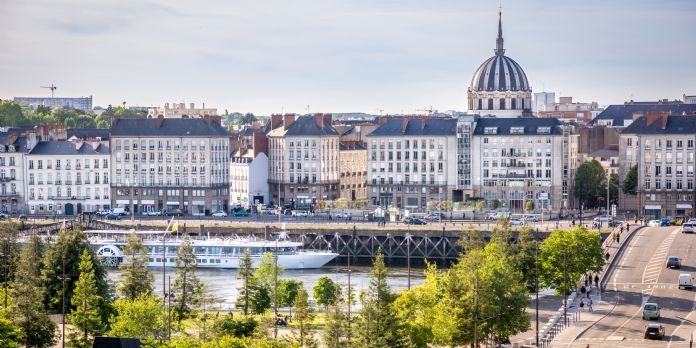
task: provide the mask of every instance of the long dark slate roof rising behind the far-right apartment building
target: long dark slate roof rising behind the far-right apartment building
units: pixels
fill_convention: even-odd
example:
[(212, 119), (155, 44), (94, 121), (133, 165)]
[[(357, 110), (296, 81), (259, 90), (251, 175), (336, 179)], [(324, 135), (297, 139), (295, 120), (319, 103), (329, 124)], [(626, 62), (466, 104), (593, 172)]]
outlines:
[(624, 127), (624, 120), (633, 120), (634, 113), (641, 113), (642, 116), (648, 112), (667, 112), (670, 115), (694, 115), (696, 104), (682, 103), (658, 103), (658, 102), (634, 102), (623, 105), (609, 105), (597, 117), (590, 121), (590, 124), (597, 124), (599, 120), (612, 120), (614, 127)]

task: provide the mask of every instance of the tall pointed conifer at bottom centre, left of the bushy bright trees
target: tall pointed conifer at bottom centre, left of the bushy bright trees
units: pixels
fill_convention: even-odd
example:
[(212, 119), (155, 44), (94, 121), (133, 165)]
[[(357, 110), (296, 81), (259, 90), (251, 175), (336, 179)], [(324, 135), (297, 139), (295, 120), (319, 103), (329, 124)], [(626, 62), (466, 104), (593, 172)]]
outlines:
[(407, 346), (406, 334), (392, 308), (395, 295), (387, 284), (387, 276), (388, 271), (380, 249), (370, 270), (369, 287), (362, 296), (362, 308), (356, 323), (355, 343), (358, 347)]

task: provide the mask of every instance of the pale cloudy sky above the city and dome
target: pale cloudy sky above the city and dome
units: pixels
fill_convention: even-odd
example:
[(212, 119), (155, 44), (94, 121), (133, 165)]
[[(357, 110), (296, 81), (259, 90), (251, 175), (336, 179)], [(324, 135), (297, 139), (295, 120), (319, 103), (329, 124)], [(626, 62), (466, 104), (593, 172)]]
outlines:
[[(0, 0), (0, 99), (205, 103), (220, 113), (465, 111), (492, 0)], [(696, 94), (696, 1), (503, 1), (534, 92)]]

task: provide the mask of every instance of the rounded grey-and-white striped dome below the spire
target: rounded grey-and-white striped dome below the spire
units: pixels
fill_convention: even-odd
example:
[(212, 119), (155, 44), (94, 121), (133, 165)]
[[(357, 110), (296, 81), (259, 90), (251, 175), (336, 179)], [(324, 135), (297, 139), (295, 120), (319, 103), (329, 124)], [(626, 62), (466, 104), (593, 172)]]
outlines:
[(529, 91), (527, 75), (519, 64), (505, 55), (486, 59), (471, 79), (474, 91)]

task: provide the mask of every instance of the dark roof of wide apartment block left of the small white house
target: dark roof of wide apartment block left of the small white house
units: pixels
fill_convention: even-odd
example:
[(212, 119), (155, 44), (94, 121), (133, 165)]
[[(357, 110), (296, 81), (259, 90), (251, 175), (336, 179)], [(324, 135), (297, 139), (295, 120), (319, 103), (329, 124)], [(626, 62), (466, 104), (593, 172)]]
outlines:
[[(162, 125), (158, 128), (157, 122)], [(216, 122), (210, 122), (198, 118), (156, 118), (144, 119), (119, 119), (111, 126), (111, 136), (145, 136), (145, 137), (179, 137), (179, 136), (222, 136), (228, 137), (229, 133)]]

